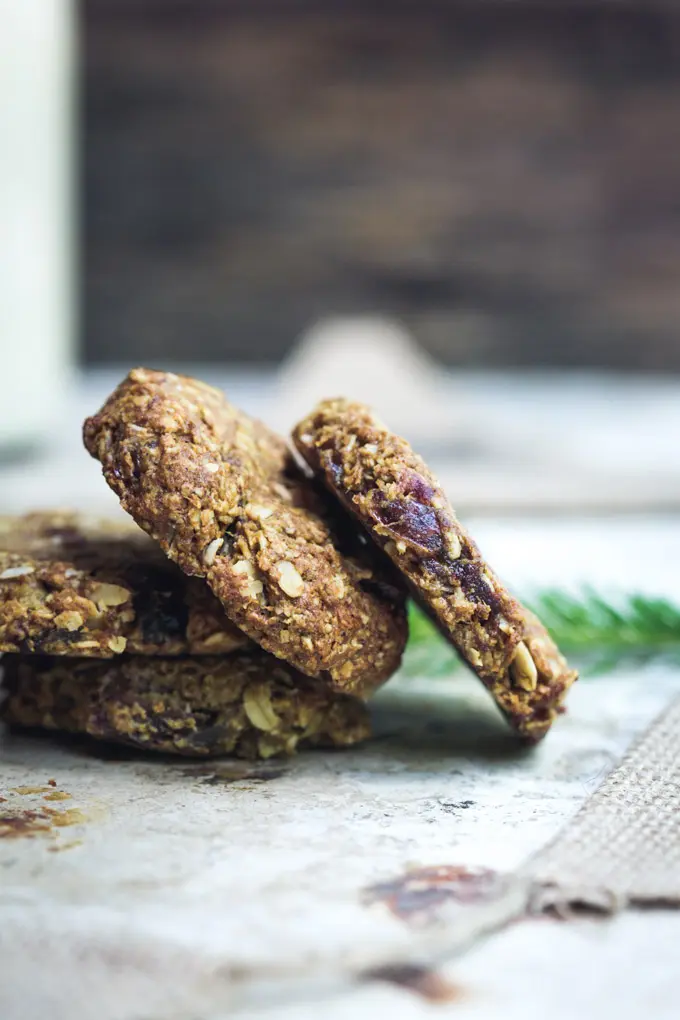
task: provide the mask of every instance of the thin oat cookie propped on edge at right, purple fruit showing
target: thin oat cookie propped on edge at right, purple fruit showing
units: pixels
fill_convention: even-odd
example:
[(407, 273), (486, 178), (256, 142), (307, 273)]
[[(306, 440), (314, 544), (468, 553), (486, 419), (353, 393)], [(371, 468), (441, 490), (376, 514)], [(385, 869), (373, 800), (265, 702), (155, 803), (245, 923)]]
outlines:
[(310, 467), (406, 577), (511, 724), (538, 740), (576, 673), (503, 586), (409, 444), (362, 404), (329, 400), (295, 429)]

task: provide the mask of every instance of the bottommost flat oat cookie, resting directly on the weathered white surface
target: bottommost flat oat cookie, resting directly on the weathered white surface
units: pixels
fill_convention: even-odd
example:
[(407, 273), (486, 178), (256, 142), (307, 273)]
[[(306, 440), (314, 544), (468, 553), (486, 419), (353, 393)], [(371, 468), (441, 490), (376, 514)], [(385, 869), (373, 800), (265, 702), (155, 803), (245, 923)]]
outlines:
[(260, 649), (220, 658), (125, 655), (99, 662), (9, 655), (2, 669), (0, 716), (11, 726), (195, 757), (270, 758), (369, 735), (362, 702)]

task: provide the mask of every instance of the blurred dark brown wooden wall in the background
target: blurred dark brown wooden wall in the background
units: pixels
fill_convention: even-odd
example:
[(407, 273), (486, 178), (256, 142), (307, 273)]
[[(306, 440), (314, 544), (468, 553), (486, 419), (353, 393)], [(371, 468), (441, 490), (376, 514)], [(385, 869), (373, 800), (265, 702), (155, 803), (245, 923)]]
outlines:
[(680, 368), (680, 8), (84, 0), (85, 355)]

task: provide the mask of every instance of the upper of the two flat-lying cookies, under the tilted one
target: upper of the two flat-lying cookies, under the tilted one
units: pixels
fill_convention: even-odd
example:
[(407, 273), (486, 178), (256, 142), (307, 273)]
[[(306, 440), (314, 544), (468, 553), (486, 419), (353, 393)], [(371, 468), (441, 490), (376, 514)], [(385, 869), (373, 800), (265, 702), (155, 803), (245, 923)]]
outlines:
[(218, 655), (249, 644), (132, 521), (0, 517), (0, 652)]

